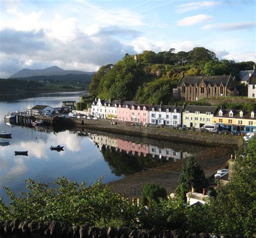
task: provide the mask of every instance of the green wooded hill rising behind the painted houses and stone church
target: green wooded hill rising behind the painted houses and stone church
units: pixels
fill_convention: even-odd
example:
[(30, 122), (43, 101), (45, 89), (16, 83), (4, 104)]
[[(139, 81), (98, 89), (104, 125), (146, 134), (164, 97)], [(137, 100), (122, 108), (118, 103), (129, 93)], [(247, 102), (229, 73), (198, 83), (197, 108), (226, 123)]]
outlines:
[(174, 49), (155, 53), (144, 51), (136, 57), (126, 54), (116, 64), (103, 65), (92, 77), (90, 95), (102, 99), (126, 98), (138, 103), (172, 104), (172, 89), (181, 72), (185, 76), (232, 75), (251, 70), (254, 62), (219, 60), (204, 47), (174, 53)]

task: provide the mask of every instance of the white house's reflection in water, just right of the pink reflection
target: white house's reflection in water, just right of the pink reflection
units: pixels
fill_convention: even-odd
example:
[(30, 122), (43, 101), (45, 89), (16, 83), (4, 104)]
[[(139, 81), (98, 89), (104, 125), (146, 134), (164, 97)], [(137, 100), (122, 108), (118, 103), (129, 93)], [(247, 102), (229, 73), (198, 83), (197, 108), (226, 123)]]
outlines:
[(174, 161), (181, 159), (181, 152), (173, 151), (171, 148), (159, 148), (157, 146), (150, 145), (149, 153), (152, 154), (152, 157), (158, 156), (159, 159), (165, 158), (169, 160), (173, 158)]

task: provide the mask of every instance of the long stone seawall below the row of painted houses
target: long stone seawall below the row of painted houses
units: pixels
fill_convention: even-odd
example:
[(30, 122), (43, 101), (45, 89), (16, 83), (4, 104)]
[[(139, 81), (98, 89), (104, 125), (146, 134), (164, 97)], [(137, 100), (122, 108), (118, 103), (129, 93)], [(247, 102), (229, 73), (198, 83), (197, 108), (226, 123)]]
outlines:
[(73, 121), (75, 125), (79, 127), (110, 132), (113, 134), (130, 135), (133, 137), (145, 137), (166, 141), (192, 142), (201, 145), (235, 145), (239, 147), (242, 145), (242, 137), (238, 135), (205, 133), (199, 131), (181, 131), (173, 130), (169, 127), (137, 127), (122, 123), (120, 121), (117, 121), (117, 125), (111, 125), (111, 121), (106, 119), (73, 119)]

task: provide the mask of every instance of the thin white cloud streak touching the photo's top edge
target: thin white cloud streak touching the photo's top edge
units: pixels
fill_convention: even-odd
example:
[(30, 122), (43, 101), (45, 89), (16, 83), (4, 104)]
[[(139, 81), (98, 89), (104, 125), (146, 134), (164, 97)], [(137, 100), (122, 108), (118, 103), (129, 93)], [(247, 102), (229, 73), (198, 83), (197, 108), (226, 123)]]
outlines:
[(215, 2), (215, 1), (203, 1), (203, 2), (191, 2), (191, 3), (184, 3), (176, 6), (176, 10), (179, 13), (193, 11), (203, 8), (210, 8), (212, 6), (221, 5), (223, 2)]

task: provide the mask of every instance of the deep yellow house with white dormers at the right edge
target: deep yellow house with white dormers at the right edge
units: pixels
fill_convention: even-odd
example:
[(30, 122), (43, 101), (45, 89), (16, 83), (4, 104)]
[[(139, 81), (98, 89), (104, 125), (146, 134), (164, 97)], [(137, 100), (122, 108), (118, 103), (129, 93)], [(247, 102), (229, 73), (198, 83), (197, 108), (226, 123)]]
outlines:
[(256, 111), (220, 109), (213, 122), (228, 131), (256, 132)]

